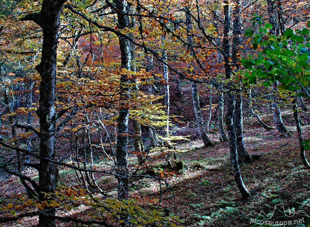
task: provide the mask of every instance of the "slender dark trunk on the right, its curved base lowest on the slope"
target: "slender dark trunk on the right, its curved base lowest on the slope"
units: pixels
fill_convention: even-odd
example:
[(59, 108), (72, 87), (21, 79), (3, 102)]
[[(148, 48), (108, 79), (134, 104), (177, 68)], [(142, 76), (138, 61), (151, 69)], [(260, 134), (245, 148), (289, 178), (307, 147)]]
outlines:
[[(238, 5), (238, 3), (236, 4)], [(230, 79), (232, 75), (232, 70), (230, 68), (230, 46), (229, 46), (229, 32), (230, 32), (230, 10), (229, 3), (227, 0), (224, 0), (224, 38), (223, 38), (223, 57), (224, 57), (224, 66), (225, 66), (225, 75), (226, 79)], [(243, 180), (241, 177), (238, 157), (237, 157), (237, 142), (236, 142), (236, 134), (233, 126), (233, 112), (234, 112), (234, 99), (235, 97), (231, 94), (231, 91), (228, 92), (228, 106), (227, 106), (227, 114), (226, 114), (226, 125), (228, 130), (229, 137), (229, 150), (230, 157), (232, 163), (232, 172), (234, 175), (234, 179), (236, 181), (237, 187), (241, 193), (243, 199), (247, 199), (250, 196), (249, 191), (243, 184)]]

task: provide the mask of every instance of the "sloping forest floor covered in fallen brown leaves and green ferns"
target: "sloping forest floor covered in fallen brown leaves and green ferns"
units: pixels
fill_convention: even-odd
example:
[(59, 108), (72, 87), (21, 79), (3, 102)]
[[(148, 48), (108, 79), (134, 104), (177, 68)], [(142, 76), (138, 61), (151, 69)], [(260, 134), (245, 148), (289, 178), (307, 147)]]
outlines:
[[(291, 136), (280, 135), (275, 129), (265, 131), (254, 118), (244, 121), (246, 148), (254, 155), (252, 163), (240, 166), (244, 184), (251, 193), (246, 201), (241, 199), (232, 176), (228, 143), (219, 142), (216, 128), (210, 129), (210, 137), (216, 142), (213, 147), (203, 147), (200, 140), (176, 144), (177, 158), (187, 166), (181, 171), (169, 169), (163, 157), (152, 159), (153, 163), (149, 165), (161, 170), (161, 177), (168, 183), (167, 187), (163, 185), (161, 193), (155, 180), (144, 178), (135, 184), (144, 197), (157, 200), (161, 197), (157, 209), (167, 207), (184, 221), (184, 226), (254, 226), (254, 219), (292, 221), (292, 225), (286, 226), (308, 226), (310, 170), (304, 170), (300, 161), (299, 143), (291, 115), (291, 111), (282, 115), (285, 124), (293, 132)], [(271, 121), (270, 118), (271, 115), (262, 116), (266, 123)], [(303, 126), (303, 131), (304, 137), (309, 138), (310, 126)], [(173, 163), (172, 152), (169, 158)], [(156, 153), (152, 155), (156, 156)], [(308, 160), (309, 155), (307, 151)], [(134, 162), (135, 156), (130, 155), (129, 160)], [(74, 176), (68, 176), (66, 174), (64, 183), (73, 185)], [(105, 189), (111, 189), (116, 184), (111, 178), (101, 183), (105, 184)], [(18, 180), (13, 176), (2, 178), (0, 187), (0, 192), (4, 192), (5, 196), (21, 190)], [(133, 188), (131, 194), (138, 193)], [(262, 216), (258, 216), (260, 212)], [(296, 220), (302, 221), (297, 225)], [(7, 223), (1, 226), (35, 226), (37, 220), (29, 218), (28, 221), (28, 224), (25, 220), (23, 224)]]

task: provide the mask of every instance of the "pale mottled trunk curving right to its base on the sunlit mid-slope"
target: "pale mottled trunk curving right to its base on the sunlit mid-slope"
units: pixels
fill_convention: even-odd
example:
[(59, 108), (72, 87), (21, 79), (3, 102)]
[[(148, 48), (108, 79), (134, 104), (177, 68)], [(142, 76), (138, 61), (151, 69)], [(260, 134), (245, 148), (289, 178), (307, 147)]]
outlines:
[[(193, 55), (193, 51), (192, 51), (193, 36), (189, 33), (189, 31), (192, 30), (192, 18), (189, 14), (188, 7), (185, 7), (185, 10), (186, 10), (185, 16), (186, 16), (186, 28), (187, 28), (187, 42), (189, 45), (188, 48), (189, 48), (189, 52), (191, 53), (191, 55)], [(193, 107), (194, 107), (194, 112), (196, 116), (196, 122), (197, 122), (199, 135), (201, 137), (202, 142), (204, 143), (206, 147), (212, 146), (213, 142), (207, 135), (207, 132), (204, 126), (203, 117), (201, 114), (197, 83), (194, 81), (191, 81), (191, 86), (192, 86)]]

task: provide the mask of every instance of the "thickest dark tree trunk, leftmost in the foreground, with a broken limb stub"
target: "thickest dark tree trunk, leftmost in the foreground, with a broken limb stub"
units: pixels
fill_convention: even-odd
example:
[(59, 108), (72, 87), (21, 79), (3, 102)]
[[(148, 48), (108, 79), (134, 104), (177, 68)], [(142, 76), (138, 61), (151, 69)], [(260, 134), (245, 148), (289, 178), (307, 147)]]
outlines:
[[(39, 161), (39, 198), (44, 201), (44, 193), (55, 189), (55, 166), (42, 158), (54, 159), (55, 140), (55, 73), (58, 44), (58, 30), (60, 26), (60, 12), (66, 0), (43, 0), (39, 13), (26, 15), (21, 20), (33, 20), (43, 32), (41, 62), (36, 70), (41, 76), (40, 99), (37, 115), (40, 119), (40, 161)], [(43, 192), (43, 193), (42, 193)], [(55, 216), (54, 208), (46, 208), (50, 216)], [(55, 219), (39, 215), (39, 227), (54, 227)]]

